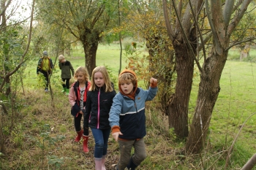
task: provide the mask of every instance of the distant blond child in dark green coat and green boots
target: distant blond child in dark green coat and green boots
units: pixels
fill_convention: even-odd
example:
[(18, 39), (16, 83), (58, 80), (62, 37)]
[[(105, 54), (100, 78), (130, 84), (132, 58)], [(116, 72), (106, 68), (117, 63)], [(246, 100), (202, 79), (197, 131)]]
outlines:
[(74, 69), (72, 64), (65, 59), (64, 55), (59, 55), (59, 69), (61, 69), (61, 80), (63, 82), (63, 90), (61, 92), (69, 95), (69, 80), (71, 79), (70, 71), (72, 72), (72, 76), (74, 76)]

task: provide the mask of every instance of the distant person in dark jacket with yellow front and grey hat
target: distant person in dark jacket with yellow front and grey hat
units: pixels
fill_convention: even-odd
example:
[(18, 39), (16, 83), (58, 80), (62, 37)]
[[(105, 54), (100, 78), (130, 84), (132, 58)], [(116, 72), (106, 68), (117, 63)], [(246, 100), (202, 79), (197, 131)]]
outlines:
[(39, 59), (37, 64), (37, 75), (39, 72), (45, 77), (45, 93), (48, 92), (49, 78), (53, 69), (53, 61), (48, 57), (47, 51), (42, 52), (42, 58)]

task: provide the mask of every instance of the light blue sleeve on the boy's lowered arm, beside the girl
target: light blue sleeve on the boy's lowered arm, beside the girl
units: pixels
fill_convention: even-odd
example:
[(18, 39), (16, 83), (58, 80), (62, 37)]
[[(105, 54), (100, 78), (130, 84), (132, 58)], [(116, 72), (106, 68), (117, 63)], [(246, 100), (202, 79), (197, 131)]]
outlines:
[(113, 98), (113, 104), (110, 108), (110, 113), (109, 113), (109, 122), (110, 122), (110, 126), (111, 128), (113, 128), (113, 126), (119, 126), (119, 115), (121, 114), (121, 108), (122, 108), (122, 100), (124, 100), (124, 98), (121, 96), (120, 93), (118, 93), (114, 98)]

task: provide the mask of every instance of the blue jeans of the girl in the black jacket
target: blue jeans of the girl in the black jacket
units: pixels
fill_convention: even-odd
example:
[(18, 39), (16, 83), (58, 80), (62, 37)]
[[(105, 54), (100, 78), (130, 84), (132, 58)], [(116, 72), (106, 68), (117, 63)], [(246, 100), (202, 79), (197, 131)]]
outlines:
[(91, 128), (95, 141), (94, 158), (102, 158), (103, 155), (107, 155), (110, 131), (111, 128), (104, 130)]

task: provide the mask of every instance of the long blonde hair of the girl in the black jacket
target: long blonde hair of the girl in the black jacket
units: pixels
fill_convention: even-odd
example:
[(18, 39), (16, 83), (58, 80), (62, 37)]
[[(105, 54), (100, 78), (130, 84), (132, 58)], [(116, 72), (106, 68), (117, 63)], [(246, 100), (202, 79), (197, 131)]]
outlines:
[(91, 73), (91, 88), (89, 90), (93, 91), (97, 88), (97, 86), (95, 85), (95, 82), (94, 82), (94, 74), (97, 72), (101, 72), (102, 76), (105, 80), (105, 92), (108, 93), (108, 92), (113, 91), (113, 87), (112, 87), (111, 81), (110, 81), (110, 76), (109, 76), (108, 71), (105, 68), (105, 66), (97, 66), (94, 68), (94, 70)]

